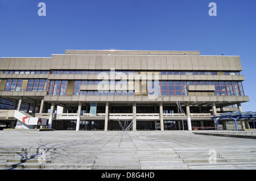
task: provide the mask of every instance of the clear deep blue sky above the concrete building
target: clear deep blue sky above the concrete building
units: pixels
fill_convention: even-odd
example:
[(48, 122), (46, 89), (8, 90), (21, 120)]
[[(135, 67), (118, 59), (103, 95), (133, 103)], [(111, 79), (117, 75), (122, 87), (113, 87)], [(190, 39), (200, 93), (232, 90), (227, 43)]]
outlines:
[[(46, 16), (38, 16), (38, 3)], [(209, 16), (209, 3), (217, 16)], [(241, 56), (256, 111), (255, 0), (0, 0), (0, 57), (51, 57), (65, 49), (200, 50)]]

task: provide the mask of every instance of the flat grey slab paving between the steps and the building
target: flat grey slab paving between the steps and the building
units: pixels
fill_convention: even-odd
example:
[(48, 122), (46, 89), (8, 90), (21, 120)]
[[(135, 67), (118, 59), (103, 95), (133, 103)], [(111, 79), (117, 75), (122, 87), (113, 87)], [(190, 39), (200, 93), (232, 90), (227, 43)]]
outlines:
[(256, 148), (255, 139), (193, 134), (191, 131), (0, 131), (0, 148), (222, 149)]

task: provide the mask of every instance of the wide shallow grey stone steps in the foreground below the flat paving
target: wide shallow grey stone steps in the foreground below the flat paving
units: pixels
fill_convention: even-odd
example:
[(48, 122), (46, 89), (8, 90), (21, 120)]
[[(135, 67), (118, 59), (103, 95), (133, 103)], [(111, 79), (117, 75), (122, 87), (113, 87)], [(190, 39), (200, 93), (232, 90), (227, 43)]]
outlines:
[[(216, 157), (213, 153), (216, 153)], [(216, 159), (210, 159), (209, 162), (209, 158), (212, 158), (210, 156)], [(212, 150), (2, 148), (0, 169), (256, 169), (256, 148)]]

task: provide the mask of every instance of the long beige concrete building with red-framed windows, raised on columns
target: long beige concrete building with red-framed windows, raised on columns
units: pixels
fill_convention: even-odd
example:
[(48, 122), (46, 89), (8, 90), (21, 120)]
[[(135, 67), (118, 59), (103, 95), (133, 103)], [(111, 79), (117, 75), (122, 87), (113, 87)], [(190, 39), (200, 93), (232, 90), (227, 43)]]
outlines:
[(249, 101), (240, 57), (199, 51), (65, 50), (2, 57), (0, 70), (0, 123), (9, 128), (216, 129), (212, 115)]

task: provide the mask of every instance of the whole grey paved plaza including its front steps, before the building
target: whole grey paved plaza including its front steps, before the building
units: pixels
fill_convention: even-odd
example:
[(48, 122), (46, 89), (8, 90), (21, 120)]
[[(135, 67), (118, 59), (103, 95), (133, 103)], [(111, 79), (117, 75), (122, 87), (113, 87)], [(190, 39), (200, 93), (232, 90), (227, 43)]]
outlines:
[[(16, 166), (26, 168), (26, 164), (28, 167), (34, 164), (35, 169), (256, 169), (256, 139), (249, 138), (208, 136), (191, 131), (1, 131), (0, 137), (5, 166), (11, 159), (4, 159), (4, 153), (10, 155), (10, 150), (27, 150), (26, 161)], [(48, 163), (29, 163), (33, 150), (35, 155), (40, 150), (52, 150)], [(216, 162), (212, 164), (210, 156), (214, 151)], [(24, 159), (24, 153), (21, 154), (15, 158)], [(36, 158), (35, 155), (31, 158)], [(68, 167), (68, 163), (73, 165)]]

